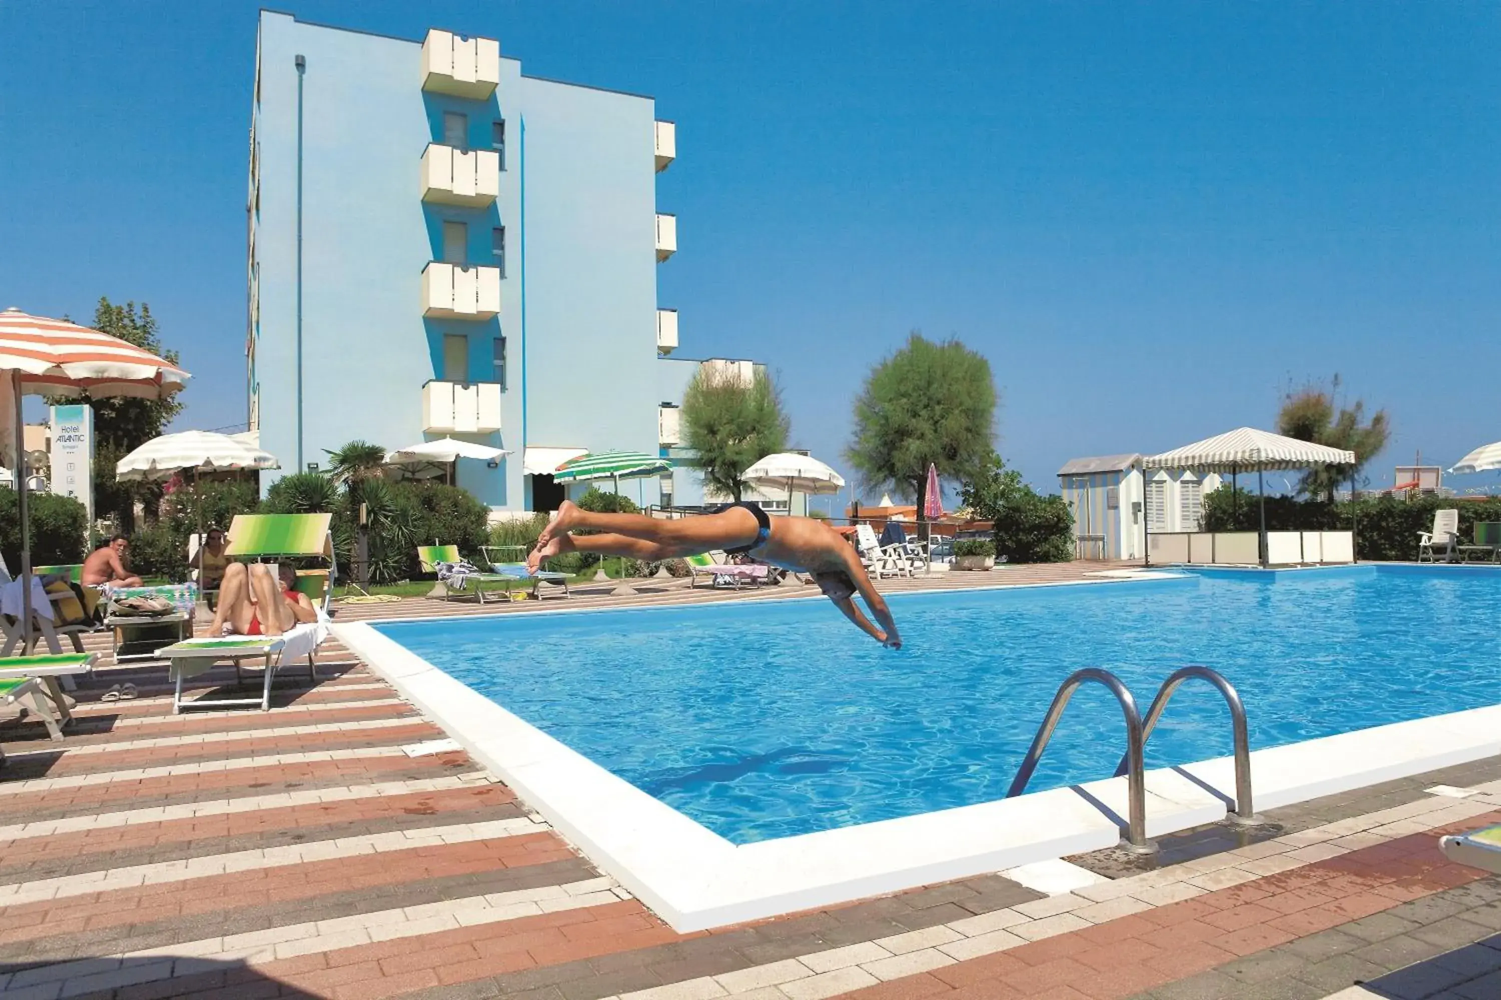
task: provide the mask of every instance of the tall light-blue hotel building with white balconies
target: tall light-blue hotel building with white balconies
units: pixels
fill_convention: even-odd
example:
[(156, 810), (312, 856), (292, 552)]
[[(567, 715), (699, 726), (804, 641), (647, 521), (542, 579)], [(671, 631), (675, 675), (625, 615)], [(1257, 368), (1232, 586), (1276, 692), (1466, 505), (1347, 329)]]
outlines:
[[(551, 510), (569, 457), (671, 454), (699, 364), (750, 376), (666, 357), (651, 97), (525, 76), (494, 39), (263, 10), (251, 121), (249, 424), (284, 474), (453, 436), (509, 451), (456, 468), (492, 511)], [(621, 493), (702, 502), (687, 469)]]

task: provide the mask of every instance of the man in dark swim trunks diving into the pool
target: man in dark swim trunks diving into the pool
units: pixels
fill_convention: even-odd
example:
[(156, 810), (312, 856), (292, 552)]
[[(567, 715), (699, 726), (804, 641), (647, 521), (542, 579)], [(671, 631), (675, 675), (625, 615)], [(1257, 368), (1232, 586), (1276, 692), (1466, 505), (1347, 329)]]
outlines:
[[(602, 534), (569, 534), (579, 528)], [(543, 559), (563, 552), (597, 552), (651, 562), (696, 556), (710, 549), (744, 553), (757, 562), (811, 574), (845, 618), (881, 645), (901, 649), (896, 621), (860, 565), (854, 546), (811, 517), (772, 519), (755, 504), (729, 504), (711, 514), (657, 520), (642, 514), (596, 514), (564, 501), (537, 538), (527, 565), (536, 570)], [(853, 598), (857, 591), (871, 615), (881, 622), (880, 628), (856, 607)]]

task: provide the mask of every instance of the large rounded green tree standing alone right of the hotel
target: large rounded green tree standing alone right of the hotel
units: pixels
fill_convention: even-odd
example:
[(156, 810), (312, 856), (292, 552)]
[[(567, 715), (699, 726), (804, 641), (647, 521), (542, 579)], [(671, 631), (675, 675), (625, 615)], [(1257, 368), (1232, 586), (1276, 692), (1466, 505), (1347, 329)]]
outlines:
[(928, 499), (928, 466), (961, 481), (982, 477), (995, 447), (991, 363), (959, 340), (937, 343), (917, 330), (877, 364), (854, 403), (845, 459), (872, 490)]

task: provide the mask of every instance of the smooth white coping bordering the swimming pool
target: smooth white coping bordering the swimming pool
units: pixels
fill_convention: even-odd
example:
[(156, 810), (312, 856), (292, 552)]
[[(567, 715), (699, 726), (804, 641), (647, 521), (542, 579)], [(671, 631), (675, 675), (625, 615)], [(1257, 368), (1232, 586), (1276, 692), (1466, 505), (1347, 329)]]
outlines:
[[(335, 625), (335, 633), (677, 931), (967, 879), (1120, 840), (1126, 778), (735, 846), (369, 624)], [(1255, 804), (1292, 805), (1496, 754), (1501, 705), (1258, 750), (1250, 754)], [(1232, 796), (1229, 757), (1148, 771), (1148, 837), (1222, 820)]]

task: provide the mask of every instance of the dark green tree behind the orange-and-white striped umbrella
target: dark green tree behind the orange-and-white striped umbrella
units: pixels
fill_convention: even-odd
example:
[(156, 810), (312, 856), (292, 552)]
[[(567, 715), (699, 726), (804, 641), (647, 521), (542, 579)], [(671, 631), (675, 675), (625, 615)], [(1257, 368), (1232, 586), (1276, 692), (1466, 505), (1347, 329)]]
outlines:
[[(162, 346), (156, 333), (156, 316), (152, 307), (141, 303), (137, 310), (134, 301), (116, 306), (108, 298), (101, 297), (95, 307), (93, 328), (110, 336), (120, 337), (128, 343), (150, 351), (152, 354), (177, 363), (177, 352)], [(152, 438), (158, 438), (167, 424), (183, 411), (183, 405), (176, 396), (168, 399), (89, 399), (84, 402), (93, 408), (95, 424), (95, 513), (108, 517), (114, 516), (122, 531), (129, 532), (135, 525), (135, 504), (140, 501), (146, 510), (155, 510), (162, 496), (159, 483), (120, 483), (114, 478), (114, 466), (131, 451), (135, 451)], [(68, 403), (75, 400), (54, 399), (53, 403)]]

